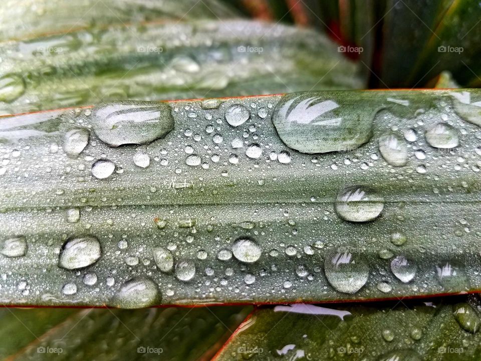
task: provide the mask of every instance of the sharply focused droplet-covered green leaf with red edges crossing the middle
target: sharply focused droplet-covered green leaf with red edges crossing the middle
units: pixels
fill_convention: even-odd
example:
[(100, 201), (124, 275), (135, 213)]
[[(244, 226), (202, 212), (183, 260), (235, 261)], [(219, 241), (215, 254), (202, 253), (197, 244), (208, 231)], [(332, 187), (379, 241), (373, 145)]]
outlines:
[[(171, 102), (158, 119), (114, 104), (4, 117), (0, 233), (27, 251), (3, 246), (0, 300), (133, 308), (478, 291), (479, 127), (453, 106), (466, 94), (480, 95), (313, 92)], [(118, 114), (171, 115), (174, 129), (139, 146), (149, 127), (137, 122), (112, 147), (117, 129), (112, 141), (95, 129)], [(306, 131), (279, 131), (293, 123)], [(321, 139), (316, 154), (287, 145), (306, 134)]]

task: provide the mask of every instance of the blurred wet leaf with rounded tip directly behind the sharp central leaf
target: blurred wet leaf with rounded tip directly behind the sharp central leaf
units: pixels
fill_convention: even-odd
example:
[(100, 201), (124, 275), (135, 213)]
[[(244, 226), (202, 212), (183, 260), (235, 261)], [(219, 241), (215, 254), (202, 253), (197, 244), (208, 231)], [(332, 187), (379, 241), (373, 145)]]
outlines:
[(0, 58), (0, 114), (363, 85), (323, 35), (242, 20), (81, 30), (4, 43)]

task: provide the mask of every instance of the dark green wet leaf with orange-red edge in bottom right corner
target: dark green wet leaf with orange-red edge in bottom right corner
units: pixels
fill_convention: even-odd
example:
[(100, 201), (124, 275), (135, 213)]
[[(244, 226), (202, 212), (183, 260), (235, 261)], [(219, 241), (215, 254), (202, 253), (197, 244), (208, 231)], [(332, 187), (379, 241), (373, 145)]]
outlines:
[(477, 360), (479, 315), (477, 296), (261, 308), (214, 360)]

